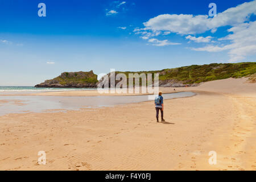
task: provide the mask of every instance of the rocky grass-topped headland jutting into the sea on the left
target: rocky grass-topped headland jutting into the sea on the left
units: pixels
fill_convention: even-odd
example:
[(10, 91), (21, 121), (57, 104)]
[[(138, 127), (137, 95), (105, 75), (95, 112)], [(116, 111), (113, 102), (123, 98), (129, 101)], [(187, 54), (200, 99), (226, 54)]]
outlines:
[(97, 86), (97, 75), (90, 72), (64, 72), (51, 80), (46, 80), (35, 85), (40, 88), (95, 88)]

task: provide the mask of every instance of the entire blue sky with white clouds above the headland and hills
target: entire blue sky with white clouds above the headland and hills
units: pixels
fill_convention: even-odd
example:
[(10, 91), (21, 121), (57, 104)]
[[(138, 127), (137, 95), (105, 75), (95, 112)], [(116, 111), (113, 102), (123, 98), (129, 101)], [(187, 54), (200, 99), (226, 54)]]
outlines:
[(255, 14), (255, 1), (0, 0), (0, 85), (35, 85), (65, 71), (255, 61)]

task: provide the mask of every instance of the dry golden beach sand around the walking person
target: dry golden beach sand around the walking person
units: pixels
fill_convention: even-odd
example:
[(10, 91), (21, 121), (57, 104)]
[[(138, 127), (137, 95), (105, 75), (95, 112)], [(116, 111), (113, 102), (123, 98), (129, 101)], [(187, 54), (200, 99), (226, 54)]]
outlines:
[[(173, 88), (163, 88), (165, 93)], [(197, 96), (67, 113), (0, 117), (2, 170), (255, 170), (256, 84), (246, 78), (195, 88)], [(43, 94), (91, 95), (95, 91)], [(39, 165), (38, 152), (47, 164)], [(208, 163), (209, 151), (217, 164)]]

